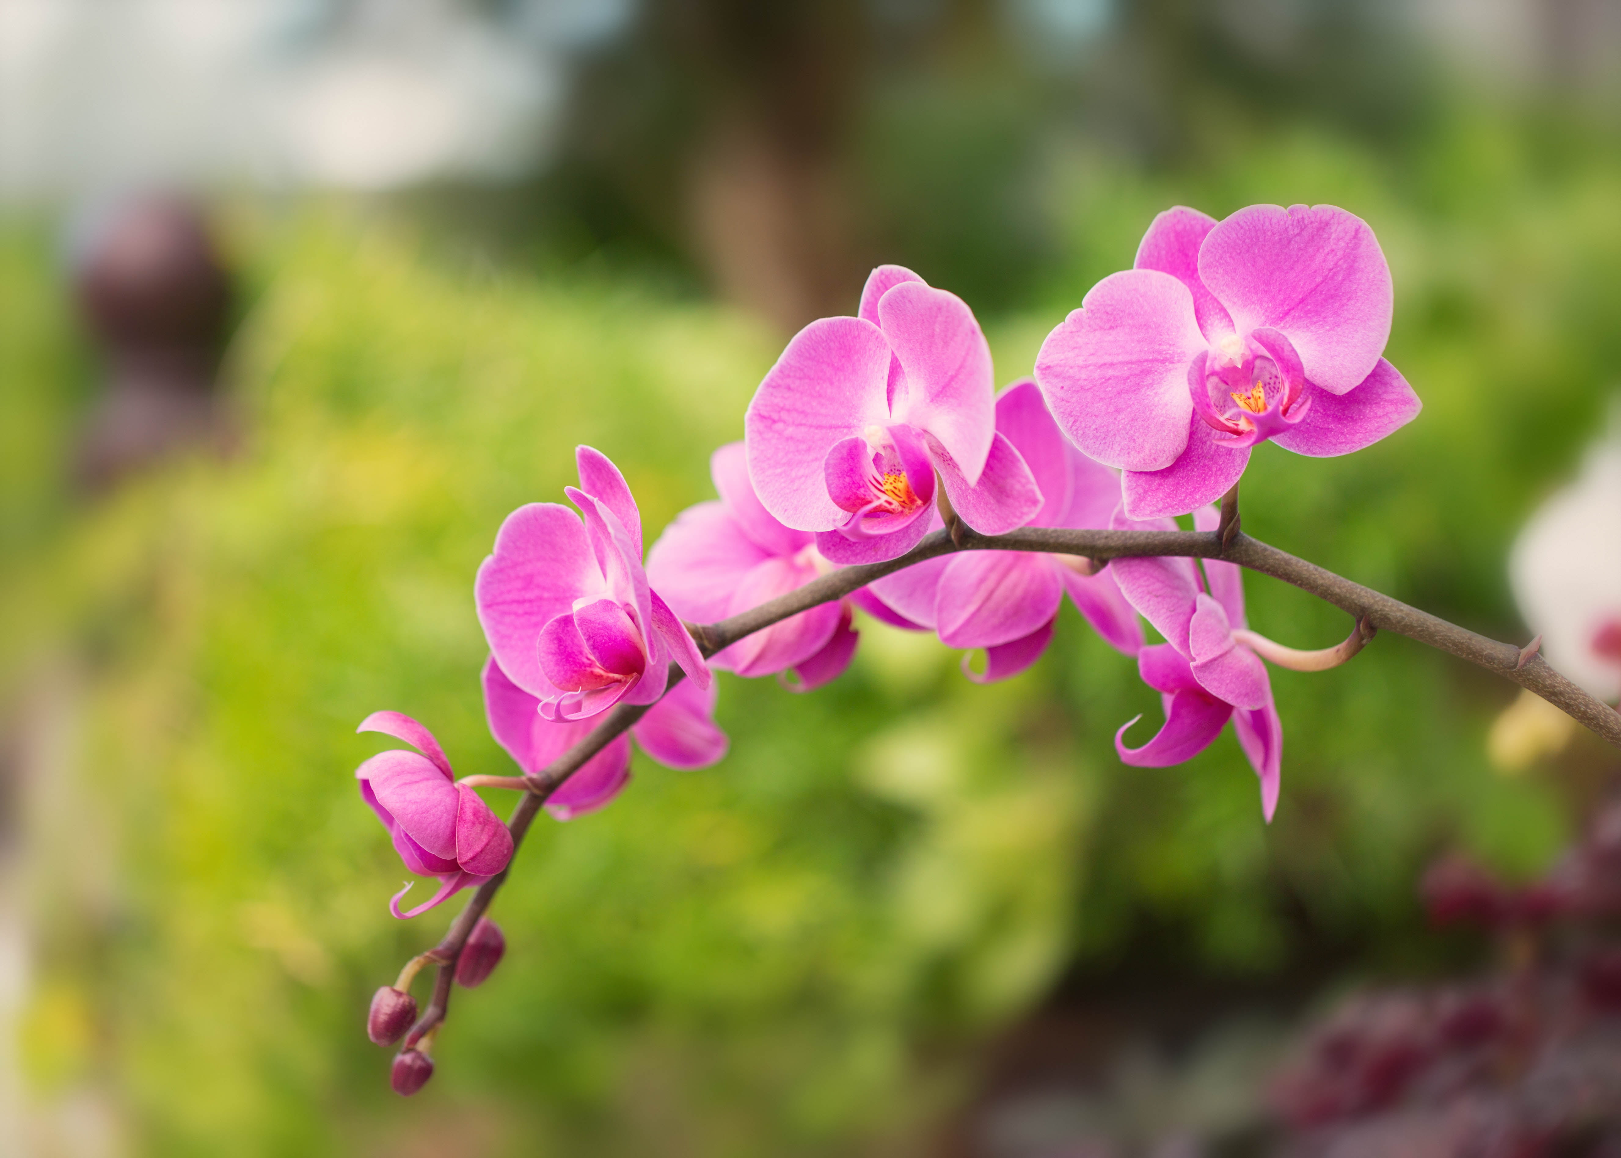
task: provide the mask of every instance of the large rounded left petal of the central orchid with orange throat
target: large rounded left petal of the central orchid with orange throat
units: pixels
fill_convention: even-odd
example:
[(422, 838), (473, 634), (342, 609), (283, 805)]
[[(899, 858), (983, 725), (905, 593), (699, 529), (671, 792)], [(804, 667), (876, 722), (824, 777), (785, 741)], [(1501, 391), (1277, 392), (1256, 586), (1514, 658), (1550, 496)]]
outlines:
[(749, 402), (749, 478), (775, 519), (832, 530), (848, 516), (827, 496), (833, 444), (890, 420), (890, 344), (869, 321), (822, 318), (801, 329)]

